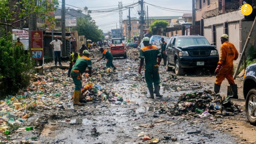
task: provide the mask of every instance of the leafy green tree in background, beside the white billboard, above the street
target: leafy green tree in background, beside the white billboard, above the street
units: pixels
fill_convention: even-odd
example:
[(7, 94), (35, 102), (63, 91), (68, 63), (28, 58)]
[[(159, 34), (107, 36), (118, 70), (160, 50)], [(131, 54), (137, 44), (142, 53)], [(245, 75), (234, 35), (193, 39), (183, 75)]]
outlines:
[(78, 17), (77, 26), (72, 28), (72, 31), (78, 31), (79, 36), (85, 36), (86, 39), (92, 42), (101, 41), (104, 37), (102, 30), (98, 29), (94, 20), (89, 17)]

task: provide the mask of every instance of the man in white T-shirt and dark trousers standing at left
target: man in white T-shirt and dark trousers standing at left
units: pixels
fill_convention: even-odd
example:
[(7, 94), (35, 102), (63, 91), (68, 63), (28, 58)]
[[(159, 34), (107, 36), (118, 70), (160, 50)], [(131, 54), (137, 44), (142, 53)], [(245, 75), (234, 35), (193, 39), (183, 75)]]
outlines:
[(62, 47), (62, 42), (58, 39), (57, 36), (54, 37), (55, 40), (50, 42), (50, 47), (54, 49), (54, 59), (55, 59), (55, 66), (57, 66), (57, 58), (59, 59), (59, 65), (61, 64), (61, 59), (60, 59), (60, 47)]

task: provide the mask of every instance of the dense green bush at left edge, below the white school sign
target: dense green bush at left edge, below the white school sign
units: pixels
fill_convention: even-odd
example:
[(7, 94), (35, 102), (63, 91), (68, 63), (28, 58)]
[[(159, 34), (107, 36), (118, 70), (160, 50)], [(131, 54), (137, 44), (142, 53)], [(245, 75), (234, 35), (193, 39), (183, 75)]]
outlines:
[(30, 53), (25, 54), (23, 47), (15, 46), (12, 42), (12, 34), (5, 34), (2, 29), (0, 37), (0, 81), (7, 81), (12, 92), (26, 87), (30, 83), (30, 71), (33, 63)]

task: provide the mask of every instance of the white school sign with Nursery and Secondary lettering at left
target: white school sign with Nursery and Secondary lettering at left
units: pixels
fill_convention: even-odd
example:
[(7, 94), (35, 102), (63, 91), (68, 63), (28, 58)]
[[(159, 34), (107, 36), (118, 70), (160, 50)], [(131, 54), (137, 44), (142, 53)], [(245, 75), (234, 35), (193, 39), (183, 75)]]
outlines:
[(23, 30), (12, 29), (12, 40), (14, 43), (17, 41), (17, 38), (20, 38), (24, 50), (28, 50), (28, 28), (24, 28)]

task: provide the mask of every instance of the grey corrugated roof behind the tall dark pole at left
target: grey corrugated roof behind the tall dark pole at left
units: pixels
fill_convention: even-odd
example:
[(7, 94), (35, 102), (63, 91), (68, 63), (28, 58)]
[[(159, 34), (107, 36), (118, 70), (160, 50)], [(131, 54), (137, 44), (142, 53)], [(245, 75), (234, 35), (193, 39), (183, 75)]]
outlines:
[[(60, 19), (61, 9), (57, 9), (56, 11), (54, 11), (54, 16), (56, 19)], [(86, 17), (86, 15), (78, 12), (75, 9), (66, 9), (66, 17)]]

